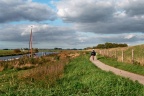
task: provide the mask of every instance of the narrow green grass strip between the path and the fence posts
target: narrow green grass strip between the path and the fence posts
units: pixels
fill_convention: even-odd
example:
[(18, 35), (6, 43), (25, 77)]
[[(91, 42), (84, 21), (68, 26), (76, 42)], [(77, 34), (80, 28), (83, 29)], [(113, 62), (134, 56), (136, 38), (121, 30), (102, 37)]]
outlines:
[(98, 56), (98, 59), (101, 62), (107, 65), (113, 66), (115, 68), (119, 68), (119, 69), (126, 70), (132, 73), (144, 75), (144, 67), (141, 65), (118, 62), (116, 59), (112, 59), (112, 58), (104, 57), (104, 56)]

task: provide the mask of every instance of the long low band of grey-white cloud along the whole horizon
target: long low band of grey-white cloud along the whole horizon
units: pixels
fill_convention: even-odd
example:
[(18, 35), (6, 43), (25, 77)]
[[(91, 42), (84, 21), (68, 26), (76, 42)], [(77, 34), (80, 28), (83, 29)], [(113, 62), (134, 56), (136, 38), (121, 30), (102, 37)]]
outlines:
[[(31, 25), (4, 25), (0, 28), (0, 41), (7, 46), (28, 47)], [(144, 40), (142, 34), (111, 34), (101, 35), (95, 33), (76, 32), (70, 27), (56, 27), (48, 24), (34, 24), (33, 44), (38, 48), (86, 48), (100, 43), (134, 43)], [(2, 43), (1, 43), (2, 45)]]

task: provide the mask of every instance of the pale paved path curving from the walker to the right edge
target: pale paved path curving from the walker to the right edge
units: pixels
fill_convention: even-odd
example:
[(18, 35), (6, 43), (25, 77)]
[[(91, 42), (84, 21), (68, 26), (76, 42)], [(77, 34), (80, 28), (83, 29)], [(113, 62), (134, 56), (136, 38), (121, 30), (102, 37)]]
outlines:
[(142, 75), (130, 73), (128, 71), (120, 70), (120, 69), (105, 65), (104, 63), (100, 62), (99, 60), (92, 60), (90, 58), (90, 61), (92, 63), (94, 63), (97, 67), (99, 67), (102, 70), (111, 71), (111, 72), (113, 72), (116, 75), (120, 75), (120, 76), (129, 78), (129, 79), (131, 79), (133, 81), (137, 80), (139, 83), (144, 85), (144, 76), (142, 76)]

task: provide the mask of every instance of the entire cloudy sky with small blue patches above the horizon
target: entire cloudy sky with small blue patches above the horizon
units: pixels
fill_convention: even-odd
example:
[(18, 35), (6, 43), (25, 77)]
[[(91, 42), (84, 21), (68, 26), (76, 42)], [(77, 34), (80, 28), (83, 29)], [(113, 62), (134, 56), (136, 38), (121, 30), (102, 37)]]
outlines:
[(0, 49), (144, 42), (144, 0), (0, 0)]

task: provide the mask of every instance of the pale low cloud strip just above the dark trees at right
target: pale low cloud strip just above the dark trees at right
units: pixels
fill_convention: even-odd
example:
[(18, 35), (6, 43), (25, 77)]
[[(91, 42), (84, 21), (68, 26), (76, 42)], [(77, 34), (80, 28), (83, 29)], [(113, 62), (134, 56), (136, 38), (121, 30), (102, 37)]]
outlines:
[(88, 43), (91, 46), (97, 44), (104, 44), (105, 42), (112, 43), (126, 43), (126, 44), (137, 44), (137, 42), (143, 42), (144, 35), (143, 34), (117, 34), (117, 35), (95, 35), (91, 38), (88, 38), (85, 41), (85, 44)]

